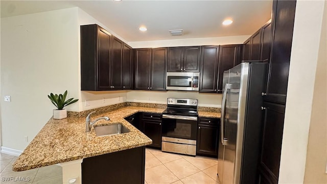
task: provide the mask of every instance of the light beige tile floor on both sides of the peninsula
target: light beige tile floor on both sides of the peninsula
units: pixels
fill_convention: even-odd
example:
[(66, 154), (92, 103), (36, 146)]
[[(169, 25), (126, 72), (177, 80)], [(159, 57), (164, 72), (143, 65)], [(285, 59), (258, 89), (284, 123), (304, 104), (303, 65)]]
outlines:
[[(14, 172), (11, 170), (11, 165), (16, 159), (16, 156), (0, 153), (0, 183), (62, 183), (62, 169), (60, 166), (52, 165)], [(166, 153), (147, 148), (145, 169), (146, 184), (218, 183), (217, 159), (209, 157)], [(14, 177), (16, 181), (13, 181), (12, 178), (6, 181), (6, 178), (10, 179), (8, 177)], [(26, 181), (17, 181), (17, 177), (25, 177)]]

